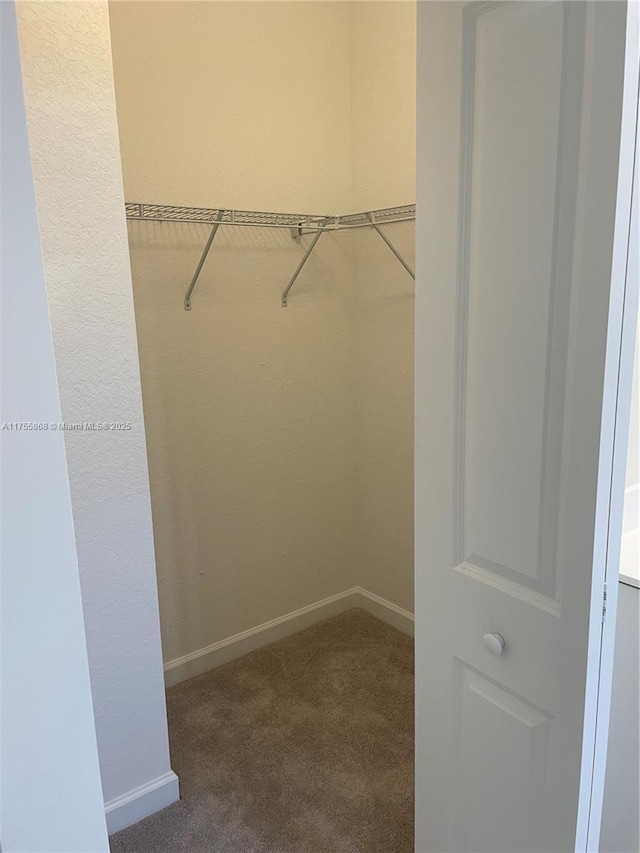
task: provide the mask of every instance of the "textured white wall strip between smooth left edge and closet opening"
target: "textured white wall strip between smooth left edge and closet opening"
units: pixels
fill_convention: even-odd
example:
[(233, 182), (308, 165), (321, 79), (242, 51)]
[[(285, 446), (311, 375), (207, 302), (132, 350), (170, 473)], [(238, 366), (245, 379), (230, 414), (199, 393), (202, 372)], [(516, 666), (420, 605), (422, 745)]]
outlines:
[(155, 782), (151, 808), (177, 797), (177, 780), (108, 11), (103, 2), (24, 2), (18, 22), (62, 416), (131, 424), (65, 433), (104, 797)]

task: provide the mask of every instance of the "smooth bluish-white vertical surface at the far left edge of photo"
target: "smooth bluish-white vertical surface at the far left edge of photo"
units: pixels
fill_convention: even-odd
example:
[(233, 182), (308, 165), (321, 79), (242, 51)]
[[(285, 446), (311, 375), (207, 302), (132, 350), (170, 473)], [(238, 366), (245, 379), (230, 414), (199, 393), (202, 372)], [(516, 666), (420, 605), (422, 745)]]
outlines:
[(2, 728), (5, 853), (109, 845), (13, 3), (2, 57)]

